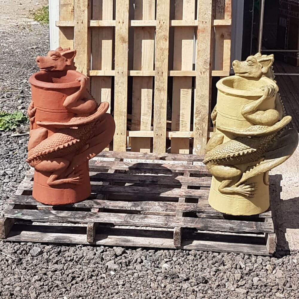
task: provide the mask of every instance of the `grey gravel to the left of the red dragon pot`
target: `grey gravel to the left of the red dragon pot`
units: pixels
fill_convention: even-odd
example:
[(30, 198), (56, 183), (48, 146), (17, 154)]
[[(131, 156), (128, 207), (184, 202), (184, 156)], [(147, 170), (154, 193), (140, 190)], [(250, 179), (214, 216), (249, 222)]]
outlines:
[[(49, 47), (47, 25), (0, 30), (0, 111), (26, 113), (31, 97), (28, 78), (38, 71), (36, 56), (46, 54)], [(29, 169), (25, 163), (28, 136), (12, 138), (11, 134), (0, 131), (0, 215)]]

